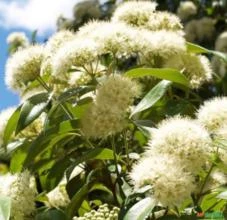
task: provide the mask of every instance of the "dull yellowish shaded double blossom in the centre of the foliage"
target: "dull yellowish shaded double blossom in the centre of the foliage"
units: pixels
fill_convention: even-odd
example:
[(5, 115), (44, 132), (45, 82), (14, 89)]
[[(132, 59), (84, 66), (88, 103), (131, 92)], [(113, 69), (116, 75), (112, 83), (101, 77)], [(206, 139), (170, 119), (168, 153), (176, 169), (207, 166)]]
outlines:
[(95, 102), (81, 120), (84, 134), (106, 138), (121, 132), (127, 125), (127, 110), (138, 95), (139, 87), (135, 82), (118, 75), (110, 76), (98, 87)]

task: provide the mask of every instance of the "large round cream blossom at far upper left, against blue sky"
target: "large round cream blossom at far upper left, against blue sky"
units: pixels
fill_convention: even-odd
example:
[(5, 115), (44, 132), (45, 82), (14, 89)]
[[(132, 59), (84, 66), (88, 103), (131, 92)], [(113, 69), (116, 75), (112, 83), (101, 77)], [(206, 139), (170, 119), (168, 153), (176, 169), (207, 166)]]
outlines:
[(43, 46), (35, 45), (14, 53), (6, 64), (6, 85), (13, 90), (21, 91), (30, 81), (40, 75), (44, 58)]

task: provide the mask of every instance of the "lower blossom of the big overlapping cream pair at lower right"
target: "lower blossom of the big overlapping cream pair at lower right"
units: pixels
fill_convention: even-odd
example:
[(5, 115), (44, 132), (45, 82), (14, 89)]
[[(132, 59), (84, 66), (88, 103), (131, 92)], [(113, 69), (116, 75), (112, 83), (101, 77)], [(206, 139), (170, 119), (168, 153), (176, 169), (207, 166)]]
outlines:
[(163, 206), (173, 207), (189, 199), (195, 189), (194, 177), (177, 157), (156, 154), (142, 158), (130, 173), (135, 188), (152, 185), (152, 194)]

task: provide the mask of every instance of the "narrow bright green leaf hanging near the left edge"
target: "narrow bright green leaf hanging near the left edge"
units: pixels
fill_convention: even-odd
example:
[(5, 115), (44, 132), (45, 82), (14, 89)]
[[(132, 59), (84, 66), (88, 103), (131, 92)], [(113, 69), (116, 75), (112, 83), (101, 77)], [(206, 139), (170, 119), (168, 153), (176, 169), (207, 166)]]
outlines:
[(11, 136), (15, 132), (17, 127), (17, 122), (20, 117), (21, 106), (19, 106), (16, 111), (11, 115), (9, 118), (7, 125), (5, 127), (4, 136), (3, 136), (3, 145), (6, 146), (8, 141), (10, 140)]

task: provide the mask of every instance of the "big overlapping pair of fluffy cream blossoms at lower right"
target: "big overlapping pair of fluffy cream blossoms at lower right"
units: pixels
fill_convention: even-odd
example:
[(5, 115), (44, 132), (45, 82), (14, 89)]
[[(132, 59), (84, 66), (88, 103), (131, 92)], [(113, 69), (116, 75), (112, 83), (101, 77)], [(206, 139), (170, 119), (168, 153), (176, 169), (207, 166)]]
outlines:
[(163, 121), (130, 177), (136, 188), (153, 186), (153, 196), (164, 206), (177, 206), (196, 188), (195, 176), (206, 164), (212, 141), (209, 133), (192, 119), (174, 117)]

